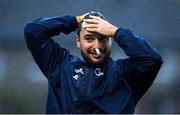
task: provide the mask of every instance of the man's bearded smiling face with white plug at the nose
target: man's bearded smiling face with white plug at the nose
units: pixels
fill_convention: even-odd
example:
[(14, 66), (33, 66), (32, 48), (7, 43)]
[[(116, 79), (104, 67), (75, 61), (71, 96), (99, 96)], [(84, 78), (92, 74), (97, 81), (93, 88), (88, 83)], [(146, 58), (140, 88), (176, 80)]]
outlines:
[(106, 62), (111, 53), (111, 38), (98, 33), (90, 33), (82, 28), (77, 39), (77, 46), (82, 57), (90, 65), (100, 65)]

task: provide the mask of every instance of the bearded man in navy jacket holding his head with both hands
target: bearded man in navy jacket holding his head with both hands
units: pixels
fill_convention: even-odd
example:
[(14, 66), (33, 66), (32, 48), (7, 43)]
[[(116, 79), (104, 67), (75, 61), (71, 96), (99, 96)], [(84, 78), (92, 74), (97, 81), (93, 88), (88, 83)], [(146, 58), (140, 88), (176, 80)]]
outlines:
[[(143, 38), (98, 12), (37, 19), (24, 30), (27, 47), (48, 79), (47, 113), (133, 113), (162, 65)], [(51, 39), (75, 30), (83, 60)], [(111, 40), (127, 59), (109, 57)]]

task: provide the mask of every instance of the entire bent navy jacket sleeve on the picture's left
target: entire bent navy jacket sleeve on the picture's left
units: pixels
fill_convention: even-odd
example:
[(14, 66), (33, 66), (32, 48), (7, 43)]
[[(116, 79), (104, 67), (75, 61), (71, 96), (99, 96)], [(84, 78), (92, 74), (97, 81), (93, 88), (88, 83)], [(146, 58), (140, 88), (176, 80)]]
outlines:
[(75, 31), (77, 26), (74, 16), (41, 18), (25, 26), (27, 47), (46, 77), (48, 72), (54, 70), (57, 64), (68, 56), (68, 51), (51, 38), (61, 32), (69, 34)]

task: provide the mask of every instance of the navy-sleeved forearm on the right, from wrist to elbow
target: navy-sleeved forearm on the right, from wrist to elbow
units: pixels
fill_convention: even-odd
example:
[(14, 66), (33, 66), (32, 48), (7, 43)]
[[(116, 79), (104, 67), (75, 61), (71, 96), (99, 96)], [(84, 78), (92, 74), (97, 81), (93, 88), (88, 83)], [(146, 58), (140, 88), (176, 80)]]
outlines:
[(119, 28), (114, 34), (114, 40), (129, 57), (159, 57), (155, 48), (128, 29)]

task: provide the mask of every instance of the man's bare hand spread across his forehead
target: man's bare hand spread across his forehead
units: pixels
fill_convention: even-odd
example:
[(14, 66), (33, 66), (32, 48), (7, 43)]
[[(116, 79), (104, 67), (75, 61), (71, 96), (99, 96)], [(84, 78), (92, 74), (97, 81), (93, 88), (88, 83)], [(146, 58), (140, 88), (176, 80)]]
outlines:
[(97, 16), (90, 16), (90, 19), (83, 19), (82, 27), (86, 28), (89, 32), (97, 32), (107, 37), (113, 37), (118, 29), (108, 21)]

